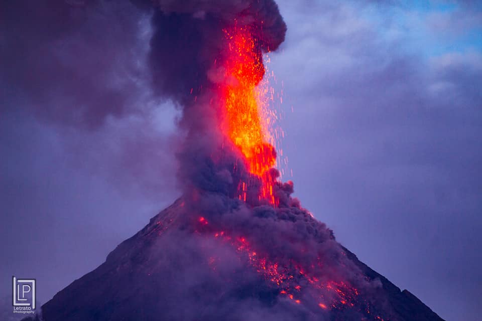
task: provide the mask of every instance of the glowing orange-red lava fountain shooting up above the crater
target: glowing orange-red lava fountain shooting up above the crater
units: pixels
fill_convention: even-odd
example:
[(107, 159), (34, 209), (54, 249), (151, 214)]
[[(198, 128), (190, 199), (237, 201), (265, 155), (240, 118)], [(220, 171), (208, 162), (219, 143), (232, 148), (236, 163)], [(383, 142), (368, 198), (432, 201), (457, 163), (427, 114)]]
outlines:
[[(262, 180), (259, 199), (277, 205), (273, 193), (275, 179), (269, 170), (276, 164), (276, 151), (269, 143), (269, 119), (261, 109), (267, 108), (257, 86), (263, 79), (263, 56), (249, 28), (224, 30), (228, 57), (224, 63), (226, 83), (221, 88), (225, 101), (224, 133), (245, 156), (252, 175)], [(239, 184), (239, 199), (246, 201), (247, 182)]]

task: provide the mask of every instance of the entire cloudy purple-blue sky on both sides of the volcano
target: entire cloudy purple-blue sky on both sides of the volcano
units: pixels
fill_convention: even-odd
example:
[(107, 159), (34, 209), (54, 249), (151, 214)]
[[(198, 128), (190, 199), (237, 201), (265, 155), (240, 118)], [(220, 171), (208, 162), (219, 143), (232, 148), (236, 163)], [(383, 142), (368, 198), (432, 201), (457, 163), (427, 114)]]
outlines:
[[(288, 32), (268, 68), (283, 90), (276, 108), (295, 196), (442, 318), (478, 320), (482, 6), (278, 4)], [(35, 57), (0, 47), (3, 306), (12, 275), (35, 277), (46, 302), (179, 196), (179, 110), (146, 85), (149, 17), (119, 15), (128, 37), (94, 15), (87, 26), (107, 28), (100, 36), (46, 33)], [(32, 21), (16, 38), (32, 36)], [(77, 113), (65, 113), (72, 104)]]

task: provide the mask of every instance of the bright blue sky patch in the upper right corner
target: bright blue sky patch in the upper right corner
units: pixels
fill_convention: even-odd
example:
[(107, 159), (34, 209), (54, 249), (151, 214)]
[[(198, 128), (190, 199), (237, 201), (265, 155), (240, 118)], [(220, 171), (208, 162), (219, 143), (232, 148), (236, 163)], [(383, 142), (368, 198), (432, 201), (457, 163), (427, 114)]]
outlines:
[(482, 50), (480, 6), (444, 1), (372, 3), (363, 10), (387, 42), (403, 41), (404, 50), (426, 58)]

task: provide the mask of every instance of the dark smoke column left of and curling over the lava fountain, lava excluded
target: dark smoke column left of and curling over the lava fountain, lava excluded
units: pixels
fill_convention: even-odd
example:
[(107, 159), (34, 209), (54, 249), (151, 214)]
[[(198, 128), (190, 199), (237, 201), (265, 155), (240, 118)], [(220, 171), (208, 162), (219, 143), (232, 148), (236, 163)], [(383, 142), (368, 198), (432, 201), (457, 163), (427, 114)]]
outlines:
[[(196, 188), (233, 195), (239, 180), (250, 178), (239, 162), (240, 155), (231, 151), (235, 148), (229, 148), (230, 142), (218, 129), (222, 102), (216, 88), (225, 80), (219, 76), (222, 67), (214, 62), (225, 58), (222, 30), (249, 26), (262, 60), (263, 52), (276, 50), (284, 41), (286, 25), (273, 0), (153, 3), (156, 10), (149, 53), (153, 90), (183, 109), (180, 127), (186, 139), (177, 151), (179, 181), (188, 191)], [(219, 157), (217, 164), (213, 154)], [(233, 171), (236, 166), (238, 170)], [(257, 195), (251, 199), (257, 200)]]

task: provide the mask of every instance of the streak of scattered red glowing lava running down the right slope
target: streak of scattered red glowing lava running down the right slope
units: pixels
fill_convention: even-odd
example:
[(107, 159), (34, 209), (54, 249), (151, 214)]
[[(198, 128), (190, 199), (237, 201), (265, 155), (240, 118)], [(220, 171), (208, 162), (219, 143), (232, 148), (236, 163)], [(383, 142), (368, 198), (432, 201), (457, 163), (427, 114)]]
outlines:
[[(231, 236), (226, 231), (213, 231), (204, 217), (199, 217), (197, 221), (198, 233), (211, 235), (219, 242), (233, 247), (240, 260), (247, 262), (262, 279), (278, 290), (279, 295), (294, 304), (304, 304), (309, 309), (319, 309), (320, 313), (326, 311), (332, 315), (336, 315), (337, 311), (354, 309), (370, 315), (374, 320), (384, 320), (380, 315), (371, 313), (370, 302), (348, 281), (323, 277), (320, 271), (324, 262), (320, 257), (310, 266), (303, 266), (292, 258), (276, 259), (269, 253), (264, 253), (265, 250), (260, 247), (257, 248), (256, 244), (252, 244), (245, 236)], [(218, 260), (211, 257), (209, 265), (212, 266), (216, 261)]]

